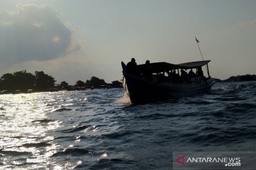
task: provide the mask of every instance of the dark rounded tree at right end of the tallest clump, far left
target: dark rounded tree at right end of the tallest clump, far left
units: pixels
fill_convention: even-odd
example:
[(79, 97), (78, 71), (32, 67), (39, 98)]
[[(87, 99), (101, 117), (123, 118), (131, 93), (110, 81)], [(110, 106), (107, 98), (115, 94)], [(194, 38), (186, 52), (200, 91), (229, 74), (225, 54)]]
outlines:
[(36, 75), (35, 88), (37, 90), (46, 90), (51, 87), (54, 87), (55, 79), (53, 77), (49, 76), (48, 74), (45, 74), (43, 71), (41, 72), (36, 71), (35, 75)]

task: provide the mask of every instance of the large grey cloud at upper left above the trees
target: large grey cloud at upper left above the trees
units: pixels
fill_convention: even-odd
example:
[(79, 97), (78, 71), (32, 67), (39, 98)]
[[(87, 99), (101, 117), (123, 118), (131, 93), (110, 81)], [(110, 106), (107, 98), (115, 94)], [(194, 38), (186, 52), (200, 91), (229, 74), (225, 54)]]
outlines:
[(1, 64), (52, 60), (79, 50), (72, 33), (50, 6), (20, 4), (17, 11), (0, 11)]

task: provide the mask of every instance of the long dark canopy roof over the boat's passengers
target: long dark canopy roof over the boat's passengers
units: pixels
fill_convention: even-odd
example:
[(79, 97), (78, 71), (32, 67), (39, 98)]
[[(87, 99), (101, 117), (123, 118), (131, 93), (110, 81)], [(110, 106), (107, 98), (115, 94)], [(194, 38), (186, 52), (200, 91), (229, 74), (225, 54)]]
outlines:
[[(149, 64), (150, 72), (168, 72), (172, 69), (196, 69), (208, 64), (210, 60), (198, 61), (198, 62), (186, 62), (181, 64), (171, 64), (168, 62), (153, 62)], [(143, 70), (146, 64), (139, 64), (139, 69)]]

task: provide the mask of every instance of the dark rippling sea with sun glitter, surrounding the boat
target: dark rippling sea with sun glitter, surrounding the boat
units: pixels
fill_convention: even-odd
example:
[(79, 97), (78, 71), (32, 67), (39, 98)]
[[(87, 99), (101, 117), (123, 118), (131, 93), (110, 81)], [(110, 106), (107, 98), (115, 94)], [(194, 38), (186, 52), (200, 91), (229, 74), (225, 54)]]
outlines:
[(124, 89), (0, 96), (0, 169), (172, 169), (182, 151), (255, 152), (256, 81), (144, 105)]

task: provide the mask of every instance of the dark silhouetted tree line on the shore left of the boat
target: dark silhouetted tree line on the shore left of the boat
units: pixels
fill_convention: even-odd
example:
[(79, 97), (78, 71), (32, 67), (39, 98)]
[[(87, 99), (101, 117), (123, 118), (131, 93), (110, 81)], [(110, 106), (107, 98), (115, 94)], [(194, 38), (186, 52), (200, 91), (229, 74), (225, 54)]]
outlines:
[[(120, 81), (112, 81), (112, 87), (118, 87), (122, 84)], [(75, 87), (94, 87), (99, 88), (101, 86), (107, 86), (104, 79), (99, 79), (97, 77), (92, 77), (90, 80), (85, 82), (78, 80), (75, 83)], [(0, 91), (28, 91), (31, 89), (33, 91), (49, 91), (50, 89), (69, 89), (70, 85), (66, 81), (62, 81), (60, 84), (55, 84), (55, 79), (45, 74), (43, 71), (36, 71), (35, 74), (31, 74), (26, 70), (20, 72), (6, 73), (0, 78)]]

